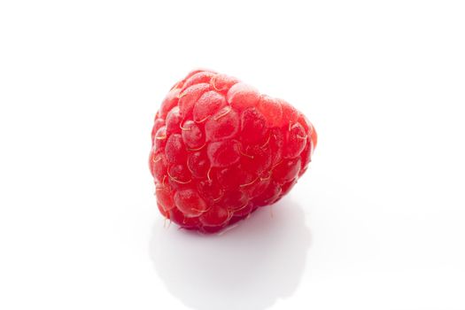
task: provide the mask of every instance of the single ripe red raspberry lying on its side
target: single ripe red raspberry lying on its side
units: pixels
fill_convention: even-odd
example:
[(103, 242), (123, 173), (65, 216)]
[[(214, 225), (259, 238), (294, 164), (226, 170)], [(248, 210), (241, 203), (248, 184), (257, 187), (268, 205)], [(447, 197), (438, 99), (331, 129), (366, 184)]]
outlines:
[(286, 195), (316, 141), (313, 125), (284, 100), (193, 71), (168, 92), (151, 131), (159, 211), (184, 229), (224, 229)]

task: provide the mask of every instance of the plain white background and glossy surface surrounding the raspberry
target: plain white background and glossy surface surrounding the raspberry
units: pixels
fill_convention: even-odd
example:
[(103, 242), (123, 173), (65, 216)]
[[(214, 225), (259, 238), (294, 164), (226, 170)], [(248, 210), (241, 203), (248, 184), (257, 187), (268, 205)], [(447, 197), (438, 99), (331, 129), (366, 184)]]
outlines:
[[(0, 308), (465, 309), (464, 17), (445, 0), (2, 1)], [(291, 194), (223, 236), (164, 229), (147, 167), (159, 103), (198, 66), (319, 133)]]

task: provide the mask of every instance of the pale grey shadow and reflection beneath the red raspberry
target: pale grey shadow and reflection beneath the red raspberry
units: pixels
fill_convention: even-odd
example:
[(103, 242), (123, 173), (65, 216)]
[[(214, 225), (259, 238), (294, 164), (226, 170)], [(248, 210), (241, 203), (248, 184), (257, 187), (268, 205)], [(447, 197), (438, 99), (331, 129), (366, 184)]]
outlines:
[(222, 235), (157, 224), (150, 251), (167, 290), (186, 306), (260, 310), (298, 288), (310, 243), (302, 208), (283, 198)]

